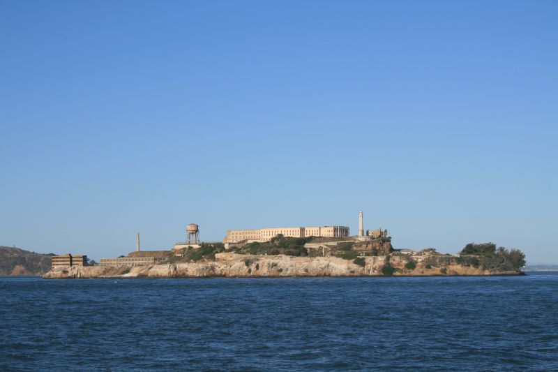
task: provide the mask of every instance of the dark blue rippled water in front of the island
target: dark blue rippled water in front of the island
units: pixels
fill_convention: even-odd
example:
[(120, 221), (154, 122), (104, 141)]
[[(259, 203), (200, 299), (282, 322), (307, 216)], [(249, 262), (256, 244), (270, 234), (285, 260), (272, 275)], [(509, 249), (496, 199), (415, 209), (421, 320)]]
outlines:
[(0, 278), (0, 371), (558, 371), (558, 273)]

